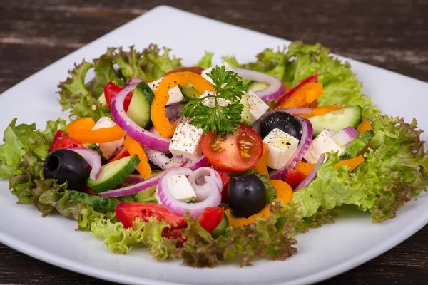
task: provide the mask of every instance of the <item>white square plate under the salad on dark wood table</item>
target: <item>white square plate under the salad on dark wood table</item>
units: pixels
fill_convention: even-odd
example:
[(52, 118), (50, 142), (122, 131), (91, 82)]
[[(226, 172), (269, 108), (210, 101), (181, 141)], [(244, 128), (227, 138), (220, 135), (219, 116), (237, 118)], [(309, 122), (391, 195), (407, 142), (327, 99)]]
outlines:
[[(217, 36), (213, 36), (217, 35)], [(42, 71), (7, 90), (0, 98), (1, 133), (15, 118), (19, 123), (36, 122), (40, 128), (49, 119), (66, 118), (56, 102), (56, 86), (82, 58), (92, 59), (108, 46), (138, 49), (158, 43), (191, 65), (204, 51), (235, 55), (240, 62), (252, 61), (264, 48), (283, 46), (288, 41), (205, 19), (168, 6), (160, 6), (106, 36), (89, 43)], [(334, 47), (332, 47), (334, 48)], [(424, 115), (428, 105), (428, 84), (381, 68), (349, 60), (365, 93), (384, 113), (417, 118), (428, 130)], [(405, 98), (405, 100), (403, 100)], [(408, 105), (406, 103), (409, 102)], [(422, 138), (427, 140), (426, 133)], [(180, 262), (156, 262), (144, 250), (129, 255), (109, 254), (101, 240), (87, 232), (75, 232), (76, 222), (60, 215), (45, 219), (31, 205), (18, 205), (16, 197), (0, 182), (0, 241), (43, 261), (81, 274), (127, 284), (307, 284), (352, 269), (391, 249), (428, 222), (428, 197), (419, 195), (399, 209), (395, 219), (372, 224), (369, 214), (340, 217), (299, 235), (299, 253), (287, 261), (258, 261), (254, 266), (218, 266), (193, 269)], [(422, 245), (421, 245), (422, 246)]]

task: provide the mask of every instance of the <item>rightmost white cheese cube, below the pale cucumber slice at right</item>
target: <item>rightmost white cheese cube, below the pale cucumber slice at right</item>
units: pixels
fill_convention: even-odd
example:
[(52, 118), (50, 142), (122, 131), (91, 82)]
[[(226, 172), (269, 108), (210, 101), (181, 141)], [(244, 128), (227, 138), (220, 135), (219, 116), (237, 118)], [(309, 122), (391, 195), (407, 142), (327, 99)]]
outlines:
[[(323, 130), (312, 140), (303, 158), (309, 163), (317, 163), (323, 153), (339, 152), (339, 155), (342, 155), (345, 152), (345, 148), (337, 145), (335, 140), (333, 140), (334, 136), (335, 132), (332, 130)], [(325, 159), (327, 160), (327, 157)]]

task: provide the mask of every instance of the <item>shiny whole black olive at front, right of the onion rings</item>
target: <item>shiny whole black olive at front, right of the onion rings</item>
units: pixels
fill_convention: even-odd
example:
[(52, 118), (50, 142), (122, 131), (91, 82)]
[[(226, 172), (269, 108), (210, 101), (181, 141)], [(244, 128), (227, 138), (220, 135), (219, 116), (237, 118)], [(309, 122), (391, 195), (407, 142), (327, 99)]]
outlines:
[(228, 186), (228, 205), (235, 217), (248, 218), (266, 205), (266, 188), (257, 175), (233, 177)]

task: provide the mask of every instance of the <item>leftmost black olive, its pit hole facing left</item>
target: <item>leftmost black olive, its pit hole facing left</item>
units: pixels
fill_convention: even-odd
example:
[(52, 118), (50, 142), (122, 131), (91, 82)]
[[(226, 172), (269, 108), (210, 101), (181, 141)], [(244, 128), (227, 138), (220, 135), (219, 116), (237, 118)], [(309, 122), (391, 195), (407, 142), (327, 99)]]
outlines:
[(69, 190), (81, 190), (90, 172), (88, 162), (73, 150), (56, 150), (43, 163), (44, 176), (58, 180), (59, 184), (67, 181)]

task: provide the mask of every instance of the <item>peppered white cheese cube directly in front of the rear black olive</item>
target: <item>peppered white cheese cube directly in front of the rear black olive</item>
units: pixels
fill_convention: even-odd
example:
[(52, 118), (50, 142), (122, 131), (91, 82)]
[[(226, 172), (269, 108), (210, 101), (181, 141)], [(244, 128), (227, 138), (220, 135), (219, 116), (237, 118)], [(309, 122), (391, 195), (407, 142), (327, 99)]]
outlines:
[(284, 167), (297, 150), (299, 140), (280, 129), (273, 129), (264, 139), (268, 152), (267, 166), (273, 169)]

